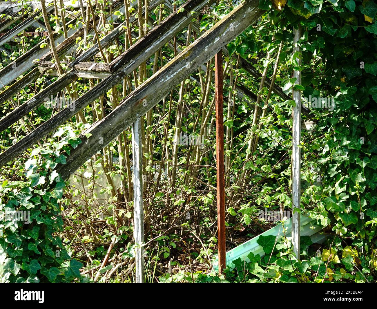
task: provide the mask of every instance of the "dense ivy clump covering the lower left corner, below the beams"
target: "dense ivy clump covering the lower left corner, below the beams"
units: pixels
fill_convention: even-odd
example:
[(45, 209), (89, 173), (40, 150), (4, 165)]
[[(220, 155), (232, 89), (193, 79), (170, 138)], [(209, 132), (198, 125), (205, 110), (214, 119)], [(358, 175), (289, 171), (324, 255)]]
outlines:
[[(62, 137), (56, 140), (56, 137)], [(54, 171), (65, 163), (62, 151), (80, 140), (65, 128), (30, 154), (19, 176), (25, 181), (4, 181), (0, 187), (0, 277), (2, 282), (70, 282), (81, 278), (83, 264), (70, 258), (58, 233), (63, 231), (60, 199), (65, 183)], [(22, 220), (20, 220), (20, 218)], [(5, 220), (7, 219), (7, 220)]]

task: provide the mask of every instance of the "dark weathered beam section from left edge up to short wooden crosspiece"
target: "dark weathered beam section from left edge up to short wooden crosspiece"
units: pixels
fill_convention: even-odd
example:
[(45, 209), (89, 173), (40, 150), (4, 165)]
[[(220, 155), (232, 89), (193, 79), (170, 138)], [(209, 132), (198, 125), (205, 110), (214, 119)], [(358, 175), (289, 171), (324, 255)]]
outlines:
[[(27, 115), (34, 108), (41, 105), (44, 101), (48, 100), (51, 97), (51, 95), (57, 94), (57, 92), (59, 92), (61, 89), (64, 89), (67, 85), (69, 85), (70, 83), (72, 83), (72, 81), (75, 81), (76, 79), (77, 75), (74, 70), (70, 70), (69, 72), (58, 78), (56, 81), (54, 81), (54, 83), (44, 88), (42, 91), (38, 92), (38, 94), (36, 94), (34, 97), (20, 105), (18, 108), (10, 112), (5, 117), (3, 117), (0, 120), (0, 132), (4, 131), (9, 126), (13, 125), (21, 117)], [(17, 144), (18, 143), (16, 143), (14, 146), (16, 146)], [(6, 151), (0, 154), (0, 162), (2, 162), (1, 164), (6, 164), (7, 162), (9, 162), (7, 161), (9, 158), (13, 158), (13, 151), (17, 148), (12, 149), (12, 147), (8, 148)]]

